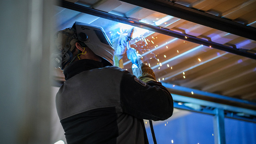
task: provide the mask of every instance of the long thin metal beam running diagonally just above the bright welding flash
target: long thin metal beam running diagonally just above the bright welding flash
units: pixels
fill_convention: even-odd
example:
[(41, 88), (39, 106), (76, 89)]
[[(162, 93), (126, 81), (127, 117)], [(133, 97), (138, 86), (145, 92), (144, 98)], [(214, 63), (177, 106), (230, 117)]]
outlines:
[(218, 50), (223, 50), (223, 51), (226, 51), (226, 52), (230, 52), (230, 53), (233, 53), (233, 54), (237, 54), (237, 55), (240, 55), (240, 56), (245, 56), (245, 57), (252, 58), (252, 59), (256, 60), (256, 54), (252, 54), (250, 52), (245, 52), (244, 50), (231, 48), (231, 47), (224, 46), (222, 44), (218, 44), (218, 43), (215, 43), (215, 42), (211, 42), (211, 41), (203, 40), (203, 39), (200, 39), (200, 38), (196, 38), (196, 37), (188, 35), (188, 34), (181, 34), (179, 32), (174, 32), (174, 31), (166, 29), (166, 28), (162, 28), (162, 27), (158, 27), (158, 26), (152, 26), (150, 24), (145, 24), (145, 23), (142, 23), (142, 22), (138, 22), (136, 20), (132, 20), (132, 19), (129, 19), (129, 18), (124, 18), (122, 16), (116, 16), (114, 14), (110, 14), (110, 13), (107, 13), (107, 12), (102, 12), (100, 10), (95, 10), (95, 9), (92, 9), (92, 8), (88, 8), (86, 6), (81, 6), (81, 5), (78, 5), (78, 4), (74, 4), (72, 2), (67, 2), (67, 1), (64, 1), (64, 0), (60, 0), (60, 2), (58, 3), (58, 6), (61, 6), (63, 8), (68, 8), (70, 10), (75, 10), (75, 11), (78, 11), (78, 12), (83, 12), (83, 13), (90, 14), (90, 15), (93, 15), (93, 16), (106, 18), (108, 20), (113, 20), (113, 21), (116, 21), (116, 22), (129, 24), (131, 26), (144, 28), (144, 29), (147, 29), (147, 30), (150, 30), (150, 31), (158, 32), (160, 34), (165, 34), (165, 35), (168, 35), (168, 36), (180, 38), (182, 40), (187, 40), (189, 42), (194, 42), (194, 43), (197, 43), (197, 44), (203, 44), (205, 46), (211, 46), (212, 48), (216, 48)]

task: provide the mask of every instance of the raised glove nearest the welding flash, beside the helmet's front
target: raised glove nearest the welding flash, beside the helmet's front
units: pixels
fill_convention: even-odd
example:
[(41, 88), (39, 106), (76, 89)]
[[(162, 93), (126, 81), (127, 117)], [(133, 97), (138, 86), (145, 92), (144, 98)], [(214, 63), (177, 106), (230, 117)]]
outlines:
[(118, 46), (115, 50), (114, 62), (115, 66), (124, 68), (122, 58), (127, 50), (126, 43), (128, 42), (127, 34), (122, 34), (118, 39)]

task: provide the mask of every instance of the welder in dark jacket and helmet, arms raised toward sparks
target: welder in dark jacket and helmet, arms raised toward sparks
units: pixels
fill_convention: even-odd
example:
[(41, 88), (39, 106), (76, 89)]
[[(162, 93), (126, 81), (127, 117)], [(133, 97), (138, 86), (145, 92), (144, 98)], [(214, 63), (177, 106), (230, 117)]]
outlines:
[[(116, 58), (128, 40), (118, 40)], [(140, 54), (134, 75), (114, 66), (115, 50), (101, 27), (75, 22), (56, 33), (55, 43), (52, 58), (66, 80), (56, 108), (68, 144), (148, 144), (143, 119), (172, 116), (171, 94)]]

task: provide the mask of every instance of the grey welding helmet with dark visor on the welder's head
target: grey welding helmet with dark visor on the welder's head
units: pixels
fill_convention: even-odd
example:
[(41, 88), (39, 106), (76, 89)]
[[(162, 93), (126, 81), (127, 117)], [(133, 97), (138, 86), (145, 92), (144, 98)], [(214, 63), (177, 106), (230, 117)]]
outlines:
[(54, 53), (53, 59), (55, 68), (63, 68), (71, 63), (73, 58), (76, 42), (82, 46), (87, 46), (100, 56), (105, 66), (114, 65), (114, 48), (108, 39), (102, 27), (75, 22), (72, 28), (66, 28), (56, 34), (56, 46), (58, 52)]

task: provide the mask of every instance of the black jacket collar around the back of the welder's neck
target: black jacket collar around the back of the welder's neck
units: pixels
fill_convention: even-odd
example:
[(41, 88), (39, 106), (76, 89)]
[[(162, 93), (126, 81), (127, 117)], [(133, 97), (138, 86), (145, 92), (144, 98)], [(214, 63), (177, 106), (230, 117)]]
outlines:
[(83, 72), (85, 70), (92, 70), (94, 68), (103, 68), (103, 64), (101, 62), (95, 61), (95, 60), (89, 60), (89, 59), (82, 59), (77, 60), (67, 66), (63, 73), (65, 75), (65, 80), (68, 80), (75, 76), (76, 74), (79, 74), (80, 72)]

